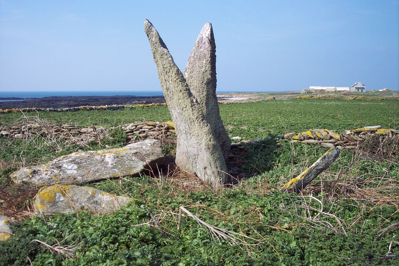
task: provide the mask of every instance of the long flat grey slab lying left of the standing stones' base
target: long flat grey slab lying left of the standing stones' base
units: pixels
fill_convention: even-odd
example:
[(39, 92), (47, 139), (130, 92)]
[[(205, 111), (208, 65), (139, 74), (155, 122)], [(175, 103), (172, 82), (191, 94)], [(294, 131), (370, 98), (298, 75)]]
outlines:
[(161, 142), (145, 140), (119, 149), (74, 152), (11, 174), (16, 183), (34, 186), (78, 185), (119, 176), (140, 175), (164, 164)]

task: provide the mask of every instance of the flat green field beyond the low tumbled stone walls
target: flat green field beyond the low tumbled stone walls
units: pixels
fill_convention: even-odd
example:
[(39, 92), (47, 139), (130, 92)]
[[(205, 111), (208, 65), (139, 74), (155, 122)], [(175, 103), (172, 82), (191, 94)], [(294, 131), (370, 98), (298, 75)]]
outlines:
[[(220, 104), (219, 109), (229, 134), (241, 134), (246, 138), (261, 137), (262, 133), (258, 133), (258, 130), (265, 130), (260, 132), (265, 132), (267, 135), (301, 132), (317, 127), (342, 131), (366, 124), (381, 124), (387, 128), (396, 128), (399, 121), (397, 101), (267, 100)], [(1, 114), (0, 124), (14, 124), (20, 117), (20, 113)], [(133, 121), (171, 119), (167, 106), (115, 111), (40, 112), (40, 118), (58, 124), (69, 123), (80, 126), (94, 124), (105, 127)], [(245, 126), (247, 129), (241, 128)]]

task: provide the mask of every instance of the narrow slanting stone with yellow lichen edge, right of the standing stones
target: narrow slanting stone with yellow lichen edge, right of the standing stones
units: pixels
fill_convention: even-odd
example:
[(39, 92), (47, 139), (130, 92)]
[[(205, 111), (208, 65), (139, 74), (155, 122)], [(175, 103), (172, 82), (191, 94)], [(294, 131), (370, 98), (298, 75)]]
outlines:
[(297, 177), (291, 179), (288, 183), (280, 187), (280, 189), (288, 192), (299, 192), (306, 187), (313, 179), (315, 179), (322, 171), (327, 169), (340, 155), (339, 149), (330, 149), (314, 164), (308, 167)]

